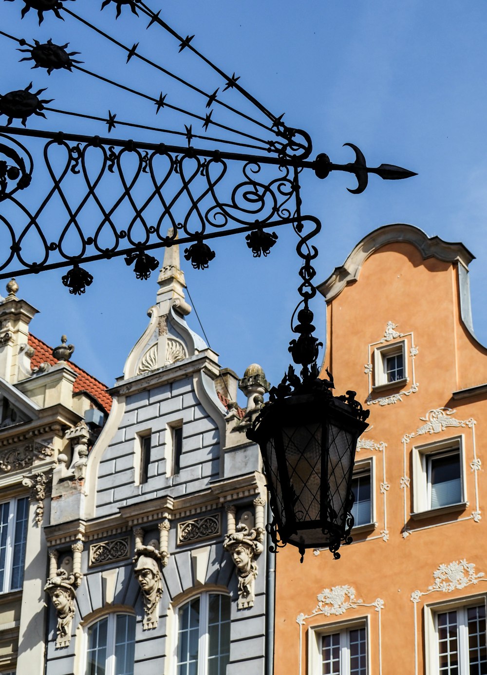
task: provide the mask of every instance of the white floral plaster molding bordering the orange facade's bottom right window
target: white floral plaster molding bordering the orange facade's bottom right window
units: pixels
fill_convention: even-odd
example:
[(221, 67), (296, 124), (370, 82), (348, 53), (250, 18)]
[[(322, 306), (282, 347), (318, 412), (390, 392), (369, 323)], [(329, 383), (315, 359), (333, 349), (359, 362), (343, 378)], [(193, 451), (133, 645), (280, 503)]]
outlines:
[(454, 560), (449, 564), (441, 564), (433, 572), (434, 583), (427, 591), (413, 591), (411, 602), (414, 605), (414, 672), (418, 675), (418, 604), (420, 599), (430, 593), (452, 593), (461, 591), (467, 586), (487, 581), (484, 572), (475, 572), (475, 564), (463, 560)]

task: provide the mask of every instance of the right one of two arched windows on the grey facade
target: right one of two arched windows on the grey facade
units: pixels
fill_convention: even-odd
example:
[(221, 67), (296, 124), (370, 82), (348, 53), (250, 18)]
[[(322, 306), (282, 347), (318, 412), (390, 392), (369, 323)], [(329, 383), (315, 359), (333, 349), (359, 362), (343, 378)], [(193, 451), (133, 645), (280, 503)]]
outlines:
[(230, 598), (202, 593), (177, 612), (176, 675), (225, 675), (230, 657)]

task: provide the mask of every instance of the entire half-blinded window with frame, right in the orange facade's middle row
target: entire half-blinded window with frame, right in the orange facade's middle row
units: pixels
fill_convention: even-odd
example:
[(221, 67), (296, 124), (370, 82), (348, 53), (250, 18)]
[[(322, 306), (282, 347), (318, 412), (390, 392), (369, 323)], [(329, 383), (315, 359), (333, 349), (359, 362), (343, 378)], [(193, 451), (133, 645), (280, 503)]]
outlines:
[(465, 503), (463, 439), (413, 448), (414, 512)]

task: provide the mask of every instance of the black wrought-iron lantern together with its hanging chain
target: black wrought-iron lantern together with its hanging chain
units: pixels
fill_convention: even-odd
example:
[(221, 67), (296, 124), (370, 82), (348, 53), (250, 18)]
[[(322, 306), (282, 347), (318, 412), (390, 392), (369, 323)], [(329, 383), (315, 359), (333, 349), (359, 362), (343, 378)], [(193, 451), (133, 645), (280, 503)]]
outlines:
[[(274, 520), (268, 525), (273, 550), (287, 543), (297, 546), (303, 562), (307, 548), (330, 549), (334, 558), (342, 543), (351, 543), (353, 492), (351, 481), (358, 437), (368, 427), (369, 410), (355, 400), (355, 391), (333, 396), (333, 377), (318, 377), (318, 351), (309, 301), (316, 295), (312, 260), (318, 255), (309, 235), (295, 227), (300, 241), (297, 253), (301, 302), (291, 329), (298, 337), (289, 343), (293, 361), (302, 366), (299, 377), (292, 366), (283, 381), (270, 389), (269, 402), (254, 419), (247, 437), (260, 446), (270, 507)], [(301, 308), (299, 309), (299, 307)], [(299, 311), (297, 311), (299, 309)]]

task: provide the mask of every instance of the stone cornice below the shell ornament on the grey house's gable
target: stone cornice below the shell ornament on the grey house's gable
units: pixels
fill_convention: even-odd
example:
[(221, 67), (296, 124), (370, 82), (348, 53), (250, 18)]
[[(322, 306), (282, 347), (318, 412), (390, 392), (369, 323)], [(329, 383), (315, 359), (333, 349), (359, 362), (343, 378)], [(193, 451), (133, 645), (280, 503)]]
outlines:
[(212, 379), (220, 373), (218, 364), (212, 358), (209, 358), (205, 352), (201, 352), (191, 358), (177, 361), (173, 365), (165, 366), (149, 373), (143, 373), (142, 375), (136, 375), (136, 377), (131, 377), (130, 379), (123, 379), (114, 387), (111, 387), (111, 389), (107, 389), (107, 391), (111, 396), (132, 396), (132, 394), (137, 394), (138, 391), (153, 389), (162, 384), (183, 379), (183, 377), (189, 377), (200, 371), (204, 371)]

